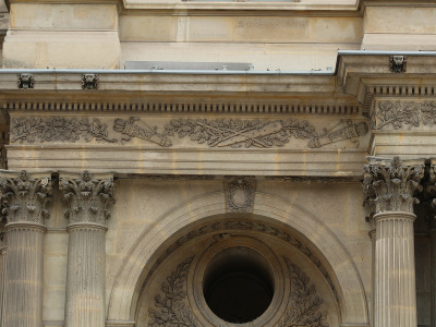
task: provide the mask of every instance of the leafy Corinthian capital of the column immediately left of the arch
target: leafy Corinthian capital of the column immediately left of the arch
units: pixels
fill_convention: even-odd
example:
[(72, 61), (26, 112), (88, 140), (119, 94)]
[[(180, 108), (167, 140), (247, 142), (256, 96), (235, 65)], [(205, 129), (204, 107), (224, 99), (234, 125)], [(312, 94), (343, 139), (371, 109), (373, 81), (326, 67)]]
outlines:
[(59, 187), (63, 191), (63, 199), (68, 203), (64, 214), (70, 223), (105, 225), (106, 219), (109, 219), (110, 211), (107, 206), (114, 203), (112, 175), (95, 178), (85, 170), (80, 178), (61, 177)]

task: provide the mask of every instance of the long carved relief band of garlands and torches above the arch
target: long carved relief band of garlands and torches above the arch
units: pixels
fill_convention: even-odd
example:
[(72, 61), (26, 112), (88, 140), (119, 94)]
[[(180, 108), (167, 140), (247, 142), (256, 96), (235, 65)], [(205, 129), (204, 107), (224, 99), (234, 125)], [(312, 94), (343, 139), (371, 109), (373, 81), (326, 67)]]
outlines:
[[(368, 132), (365, 122), (353, 123), (351, 120), (340, 121), (332, 129), (316, 132), (315, 128), (305, 121), (299, 120), (207, 120), (207, 119), (178, 119), (171, 120), (158, 131), (146, 122), (138, 123), (138, 118), (130, 120), (116, 119), (113, 131), (120, 133), (121, 143), (133, 137), (141, 138), (161, 147), (173, 145), (173, 136), (186, 136), (197, 144), (207, 144), (209, 147), (282, 147), (294, 138), (308, 140), (307, 146), (319, 148), (346, 140), (356, 140)], [(116, 143), (118, 138), (108, 137), (107, 125), (98, 119), (89, 122), (87, 118), (14, 118), (12, 120), (12, 143), (26, 140), (40, 142), (77, 142), (81, 137), (85, 142), (105, 141)]]

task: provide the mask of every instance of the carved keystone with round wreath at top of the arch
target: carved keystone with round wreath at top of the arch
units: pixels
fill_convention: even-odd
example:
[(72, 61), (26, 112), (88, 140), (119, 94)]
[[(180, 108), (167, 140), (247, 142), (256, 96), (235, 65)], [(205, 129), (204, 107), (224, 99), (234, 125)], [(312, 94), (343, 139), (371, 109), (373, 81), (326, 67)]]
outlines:
[(252, 213), (256, 180), (254, 177), (229, 177), (226, 180), (228, 213)]

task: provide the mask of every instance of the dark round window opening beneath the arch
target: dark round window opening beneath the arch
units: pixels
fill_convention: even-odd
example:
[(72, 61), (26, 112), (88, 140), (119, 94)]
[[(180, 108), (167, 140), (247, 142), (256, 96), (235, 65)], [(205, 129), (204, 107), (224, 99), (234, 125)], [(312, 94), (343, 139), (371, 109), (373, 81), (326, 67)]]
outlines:
[(232, 324), (253, 322), (272, 301), (271, 268), (250, 247), (227, 249), (207, 265), (203, 293), (219, 318)]

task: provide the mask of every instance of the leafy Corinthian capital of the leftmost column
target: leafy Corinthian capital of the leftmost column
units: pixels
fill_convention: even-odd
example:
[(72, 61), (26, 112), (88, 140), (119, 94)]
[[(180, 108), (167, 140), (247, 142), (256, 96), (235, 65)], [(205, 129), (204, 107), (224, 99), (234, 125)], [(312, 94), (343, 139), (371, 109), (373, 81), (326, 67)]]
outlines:
[(3, 172), (0, 177), (1, 201), (8, 222), (36, 222), (44, 225), (50, 215), (46, 204), (51, 198), (51, 177)]

